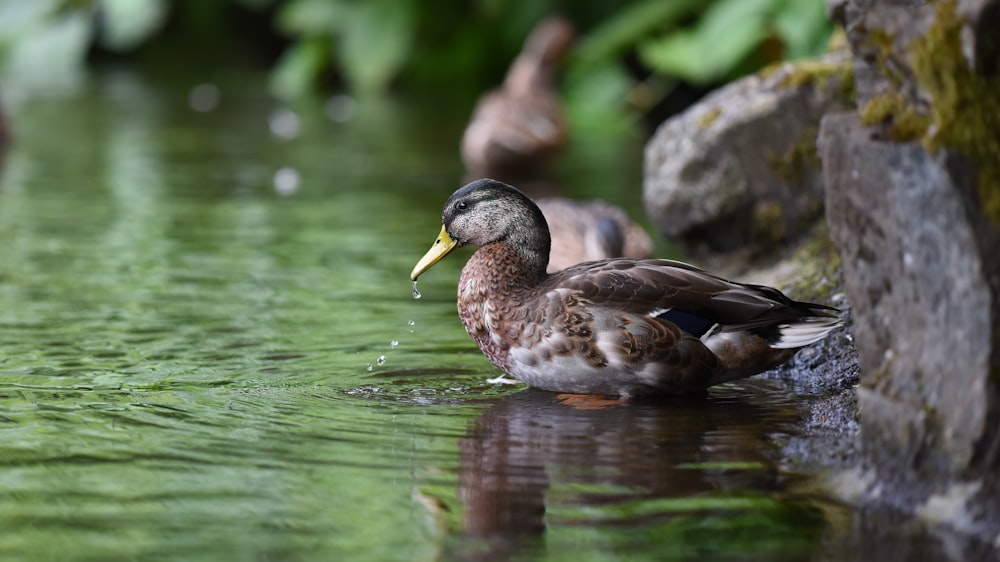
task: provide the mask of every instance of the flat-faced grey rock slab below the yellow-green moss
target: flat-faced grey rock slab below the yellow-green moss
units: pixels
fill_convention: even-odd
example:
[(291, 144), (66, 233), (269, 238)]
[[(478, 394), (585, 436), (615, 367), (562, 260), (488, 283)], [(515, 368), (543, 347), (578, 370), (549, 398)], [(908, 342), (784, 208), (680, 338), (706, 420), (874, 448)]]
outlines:
[[(956, 477), (992, 428), (1000, 275), (970, 208), (972, 176), (947, 151), (872, 140), (853, 114), (823, 122), (830, 236), (841, 252), (876, 462)], [(986, 468), (986, 467), (982, 467)]]

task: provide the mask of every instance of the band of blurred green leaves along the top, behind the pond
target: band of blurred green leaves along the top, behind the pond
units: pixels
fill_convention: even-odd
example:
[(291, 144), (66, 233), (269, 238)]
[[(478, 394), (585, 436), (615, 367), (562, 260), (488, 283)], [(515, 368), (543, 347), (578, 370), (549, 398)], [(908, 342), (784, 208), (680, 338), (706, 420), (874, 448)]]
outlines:
[(193, 27), (253, 40), (227, 20), (237, 8), (270, 19), (261, 29), (283, 48), (271, 87), (284, 98), (325, 78), (361, 95), (481, 91), (538, 19), (561, 12), (580, 31), (564, 83), (573, 113), (622, 112), (645, 96), (632, 103), (641, 109), (665, 84), (706, 87), (816, 55), (831, 31), (823, 0), (0, 0), (0, 82), (71, 79), (95, 45), (131, 53)]

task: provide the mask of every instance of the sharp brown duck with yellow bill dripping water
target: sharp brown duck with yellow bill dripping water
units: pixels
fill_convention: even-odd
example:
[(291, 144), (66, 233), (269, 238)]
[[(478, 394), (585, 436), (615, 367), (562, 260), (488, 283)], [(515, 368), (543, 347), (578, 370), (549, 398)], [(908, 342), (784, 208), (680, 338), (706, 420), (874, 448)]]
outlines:
[(476, 180), (448, 199), (410, 278), (458, 246), (458, 312), (479, 349), (521, 382), (622, 397), (690, 394), (786, 360), (841, 324), (836, 309), (671, 260), (606, 259), (546, 273), (549, 230), (517, 189)]

